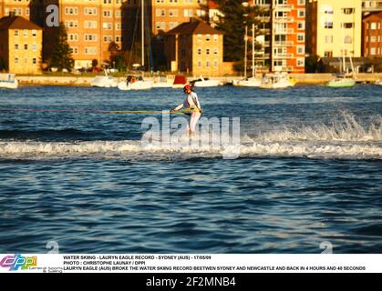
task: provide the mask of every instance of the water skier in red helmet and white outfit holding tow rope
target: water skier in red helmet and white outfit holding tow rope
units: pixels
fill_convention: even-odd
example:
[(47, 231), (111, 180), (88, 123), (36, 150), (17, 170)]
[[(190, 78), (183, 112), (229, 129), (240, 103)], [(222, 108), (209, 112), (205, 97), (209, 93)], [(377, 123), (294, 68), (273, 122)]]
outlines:
[(187, 95), (186, 100), (183, 103), (173, 108), (171, 111), (178, 111), (183, 106), (190, 109), (190, 124), (187, 128), (187, 135), (193, 135), (196, 133), (196, 124), (201, 118), (201, 104), (199, 103), (198, 95), (192, 91), (191, 85), (184, 85), (183, 87), (184, 94)]

